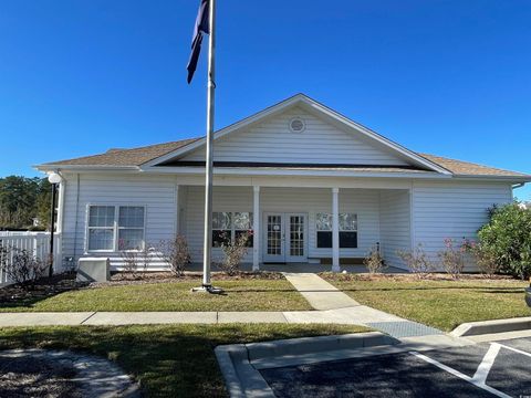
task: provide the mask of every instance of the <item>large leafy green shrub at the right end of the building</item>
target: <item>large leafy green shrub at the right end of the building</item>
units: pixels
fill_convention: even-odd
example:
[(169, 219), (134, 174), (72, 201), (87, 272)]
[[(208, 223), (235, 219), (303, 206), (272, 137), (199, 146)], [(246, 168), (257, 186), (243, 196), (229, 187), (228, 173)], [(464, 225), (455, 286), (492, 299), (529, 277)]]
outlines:
[(496, 259), (501, 272), (531, 276), (531, 210), (510, 203), (489, 213), (489, 222), (478, 231), (482, 250)]

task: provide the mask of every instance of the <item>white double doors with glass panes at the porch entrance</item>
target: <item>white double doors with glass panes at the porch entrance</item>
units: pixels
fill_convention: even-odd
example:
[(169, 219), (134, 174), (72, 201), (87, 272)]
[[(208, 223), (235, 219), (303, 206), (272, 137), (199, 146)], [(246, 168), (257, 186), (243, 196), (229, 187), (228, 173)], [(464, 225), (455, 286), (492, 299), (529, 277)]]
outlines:
[(263, 213), (263, 262), (308, 261), (308, 214)]

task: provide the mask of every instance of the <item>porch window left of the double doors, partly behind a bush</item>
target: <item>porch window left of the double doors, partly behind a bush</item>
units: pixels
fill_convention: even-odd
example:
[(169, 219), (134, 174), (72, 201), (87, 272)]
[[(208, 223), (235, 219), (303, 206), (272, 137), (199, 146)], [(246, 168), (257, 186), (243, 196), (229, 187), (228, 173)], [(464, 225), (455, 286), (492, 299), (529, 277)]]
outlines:
[[(252, 229), (252, 212), (214, 212), (212, 213), (212, 247), (236, 242), (243, 233)], [(252, 247), (252, 235), (247, 241)]]

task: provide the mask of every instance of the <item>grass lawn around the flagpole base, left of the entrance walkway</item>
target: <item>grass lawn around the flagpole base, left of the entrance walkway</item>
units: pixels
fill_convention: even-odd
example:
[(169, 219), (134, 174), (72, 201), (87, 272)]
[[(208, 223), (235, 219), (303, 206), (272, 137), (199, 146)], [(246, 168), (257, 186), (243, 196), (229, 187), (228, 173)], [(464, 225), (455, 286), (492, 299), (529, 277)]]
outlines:
[(0, 304), (0, 312), (35, 311), (298, 311), (310, 304), (284, 279), (216, 282), (223, 295), (191, 293), (197, 281), (84, 287), (44, 300)]

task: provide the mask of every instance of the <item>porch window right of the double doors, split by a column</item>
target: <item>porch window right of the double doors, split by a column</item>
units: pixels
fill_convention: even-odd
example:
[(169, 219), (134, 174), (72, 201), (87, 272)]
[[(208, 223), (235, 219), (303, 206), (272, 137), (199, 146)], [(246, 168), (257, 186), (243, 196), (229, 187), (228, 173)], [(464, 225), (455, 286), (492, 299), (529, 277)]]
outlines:
[[(340, 213), (340, 248), (357, 248), (357, 214)], [(317, 248), (332, 248), (332, 214), (317, 213), (315, 220)]]

